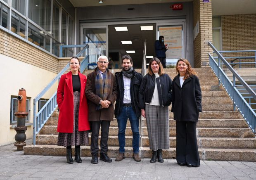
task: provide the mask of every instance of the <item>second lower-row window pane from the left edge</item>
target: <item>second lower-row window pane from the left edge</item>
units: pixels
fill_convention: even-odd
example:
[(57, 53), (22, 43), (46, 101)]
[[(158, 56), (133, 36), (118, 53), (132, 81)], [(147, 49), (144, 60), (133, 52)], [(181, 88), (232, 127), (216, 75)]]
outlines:
[(25, 38), (26, 19), (12, 11), (11, 31)]

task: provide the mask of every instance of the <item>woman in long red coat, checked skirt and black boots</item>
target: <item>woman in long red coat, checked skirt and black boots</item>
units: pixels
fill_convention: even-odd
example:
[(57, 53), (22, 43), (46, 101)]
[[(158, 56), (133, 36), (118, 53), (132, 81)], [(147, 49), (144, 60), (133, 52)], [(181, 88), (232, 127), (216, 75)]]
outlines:
[(72, 57), (69, 63), (71, 71), (61, 76), (57, 90), (57, 145), (66, 147), (67, 162), (72, 164), (71, 146), (75, 146), (76, 162), (81, 163), (80, 145), (89, 145), (90, 125), (85, 97), (86, 76), (80, 73), (80, 61), (77, 57)]

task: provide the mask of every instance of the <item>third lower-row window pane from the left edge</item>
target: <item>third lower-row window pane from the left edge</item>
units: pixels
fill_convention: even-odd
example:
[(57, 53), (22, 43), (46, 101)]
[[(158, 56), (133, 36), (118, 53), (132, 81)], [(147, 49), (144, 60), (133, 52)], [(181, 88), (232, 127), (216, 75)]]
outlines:
[(45, 33), (38, 29), (36, 26), (28, 22), (28, 40), (35, 45), (44, 47), (44, 36)]

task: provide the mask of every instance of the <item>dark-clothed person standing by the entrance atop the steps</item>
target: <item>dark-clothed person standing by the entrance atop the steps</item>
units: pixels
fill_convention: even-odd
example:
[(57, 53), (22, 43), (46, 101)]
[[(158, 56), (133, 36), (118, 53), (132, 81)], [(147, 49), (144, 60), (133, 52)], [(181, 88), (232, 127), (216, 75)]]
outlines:
[(155, 41), (155, 52), (156, 57), (160, 60), (164, 68), (166, 68), (166, 54), (168, 50), (168, 45), (164, 44), (164, 36), (159, 36), (159, 40)]

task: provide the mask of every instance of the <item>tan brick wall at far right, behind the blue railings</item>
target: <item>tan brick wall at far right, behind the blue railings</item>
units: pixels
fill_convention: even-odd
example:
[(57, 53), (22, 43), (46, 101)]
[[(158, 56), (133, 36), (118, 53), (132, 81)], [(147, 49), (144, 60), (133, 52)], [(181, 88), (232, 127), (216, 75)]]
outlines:
[[(222, 50), (256, 50), (256, 14), (221, 16)], [(255, 56), (251, 52), (225, 53), (224, 57)], [(235, 58), (227, 59), (228, 62)], [(239, 62), (237, 59), (235, 62)], [(255, 62), (255, 59), (241, 59), (241, 62)], [(235, 65), (238, 68), (239, 65)], [(241, 67), (255, 67), (242, 64)]]

